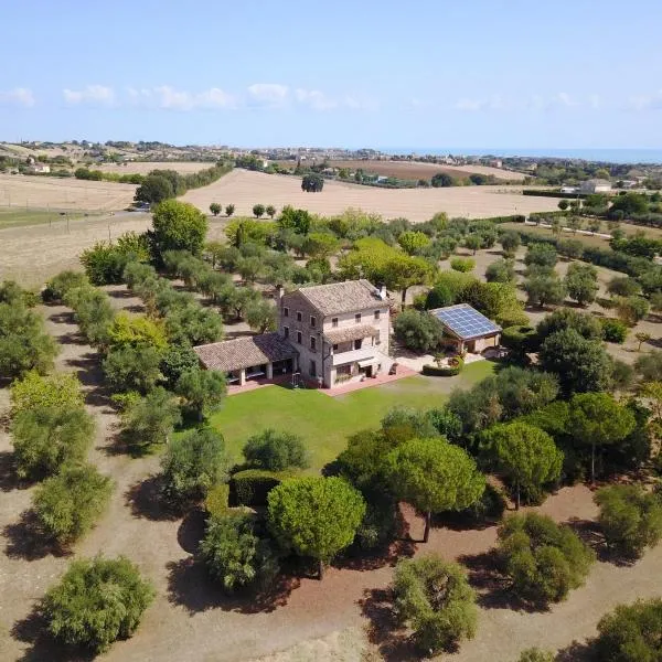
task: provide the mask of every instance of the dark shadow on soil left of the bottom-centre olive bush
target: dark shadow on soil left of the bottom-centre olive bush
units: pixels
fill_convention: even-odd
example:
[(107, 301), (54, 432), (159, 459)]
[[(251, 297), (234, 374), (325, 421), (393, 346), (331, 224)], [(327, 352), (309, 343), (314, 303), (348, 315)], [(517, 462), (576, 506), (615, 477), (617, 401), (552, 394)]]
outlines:
[(406, 662), (421, 659), (420, 651), (397, 620), (393, 591), (387, 588), (366, 589), (359, 605), (370, 622), (367, 638), (377, 647), (383, 660)]

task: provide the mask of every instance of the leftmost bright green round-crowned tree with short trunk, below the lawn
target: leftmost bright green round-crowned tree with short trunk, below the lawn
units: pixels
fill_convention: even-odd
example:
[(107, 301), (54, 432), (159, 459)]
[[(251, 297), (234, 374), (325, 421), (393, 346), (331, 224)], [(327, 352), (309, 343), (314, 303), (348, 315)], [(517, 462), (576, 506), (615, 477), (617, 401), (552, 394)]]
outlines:
[(365, 515), (361, 492), (341, 478), (306, 477), (282, 481), (269, 492), (268, 524), (297, 554), (324, 564), (354, 540)]

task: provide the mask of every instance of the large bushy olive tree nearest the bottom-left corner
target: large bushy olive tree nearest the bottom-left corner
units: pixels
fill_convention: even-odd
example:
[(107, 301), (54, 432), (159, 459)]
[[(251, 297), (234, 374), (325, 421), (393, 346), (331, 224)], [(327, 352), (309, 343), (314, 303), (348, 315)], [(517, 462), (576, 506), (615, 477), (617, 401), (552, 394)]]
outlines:
[(103, 652), (136, 631), (154, 595), (128, 558), (97, 556), (74, 560), (42, 608), (54, 637)]

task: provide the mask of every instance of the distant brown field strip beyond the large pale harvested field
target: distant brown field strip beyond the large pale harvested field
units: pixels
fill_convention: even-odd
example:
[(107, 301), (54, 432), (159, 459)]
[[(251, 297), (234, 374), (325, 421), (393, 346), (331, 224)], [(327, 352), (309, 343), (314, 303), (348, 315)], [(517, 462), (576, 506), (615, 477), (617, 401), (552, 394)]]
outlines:
[[(284, 163), (293, 164), (293, 161), (284, 161)], [(501, 170), (489, 166), (446, 166), (441, 163), (424, 163), (423, 161), (375, 161), (375, 160), (353, 160), (353, 161), (329, 161), (333, 168), (349, 168), (356, 170), (362, 168), (366, 172), (376, 172), (386, 177), (397, 177), (401, 179), (417, 180), (431, 179), (437, 172), (447, 172), (451, 177), (469, 177), (470, 174), (492, 175), (500, 180), (523, 181), (526, 177), (521, 172)]]

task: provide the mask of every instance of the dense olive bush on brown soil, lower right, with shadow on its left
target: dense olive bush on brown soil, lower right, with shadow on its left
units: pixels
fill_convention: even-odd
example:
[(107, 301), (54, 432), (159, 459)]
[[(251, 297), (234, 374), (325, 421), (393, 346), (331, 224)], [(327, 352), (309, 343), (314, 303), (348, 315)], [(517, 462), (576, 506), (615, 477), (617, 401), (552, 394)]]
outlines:
[(505, 519), (499, 527), (499, 555), (513, 590), (543, 605), (564, 600), (581, 586), (595, 560), (568, 526), (536, 513)]

